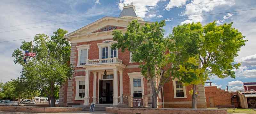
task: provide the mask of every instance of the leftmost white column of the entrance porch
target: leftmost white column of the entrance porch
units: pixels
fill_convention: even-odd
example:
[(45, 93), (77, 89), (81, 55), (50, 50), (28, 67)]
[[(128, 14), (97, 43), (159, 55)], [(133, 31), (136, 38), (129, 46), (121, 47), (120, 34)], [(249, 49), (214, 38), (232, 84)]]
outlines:
[(90, 70), (85, 70), (85, 95), (84, 95), (84, 105), (89, 105), (89, 78)]

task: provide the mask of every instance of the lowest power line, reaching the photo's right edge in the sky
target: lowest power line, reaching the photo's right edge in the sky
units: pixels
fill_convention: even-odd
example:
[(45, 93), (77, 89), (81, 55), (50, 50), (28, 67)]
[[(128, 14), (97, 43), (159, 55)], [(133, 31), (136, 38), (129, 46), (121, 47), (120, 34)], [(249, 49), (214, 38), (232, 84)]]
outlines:
[[(210, 16), (210, 15), (220, 15), (220, 14), (226, 14), (226, 13), (234, 13), (234, 12), (242, 12), (242, 11), (249, 11), (249, 10), (256, 10), (256, 8), (254, 9), (248, 9), (248, 10), (238, 10), (238, 11), (229, 11), (229, 12), (222, 12), (222, 13), (214, 13), (214, 14), (206, 14), (206, 15), (200, 15), (200, 16), (191, 16), (191, 17), (203, 17), (203, 16)], [(191, 17), (181, 17), (181, 18), (173, 18), (171, 20), (177, 20), (177, 19), (184, 19), (184, 18), (191, 18)], [(169, 18), (165, 18), (164, 20), (166, 19), (170, 19)], [(155, 19), (156, 20), (156, 19)], [(158, 21), (161, 21), (161, 20), (158, 20)], [(121, 26), (126, 26), (126, 25), (121, 25)], [(52, 36), (52, 35), (50, 35)], [(32, 37), (33, 38), (33, 37)], [(18, 40), (24, 40), (24, 39), (31, 39), (31, 38), (23, 38), (23, 39), (17, 39), (17, 40), (9, 40), (9, 41), (2, 41), (0, 43), (4, 43), (4, 42), (11, 42), (11, 41), (18, 41)]]

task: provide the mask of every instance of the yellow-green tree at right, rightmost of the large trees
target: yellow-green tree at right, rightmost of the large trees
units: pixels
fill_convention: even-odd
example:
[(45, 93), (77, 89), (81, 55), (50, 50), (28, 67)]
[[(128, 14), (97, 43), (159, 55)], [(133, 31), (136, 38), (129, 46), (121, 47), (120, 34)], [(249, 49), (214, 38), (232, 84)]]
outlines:
[[(196, 84), (204, 84), (213, 75), (219, 78), (235, 78), (233, 69), (240, 66), (240, 63), (235, 62), (235, 57), (247, 40), (244, 40), (245, 37), (232, 24), (217, 25), (214, 21), (202, 26), (200, 23), (188, 23), (174, 27), (169, 36), (175, 40), (176, 46), (181, 45), (180, 53), (186, 54), (190, 50), (195, 55), (193, 60), (185, 62), (193, 64), (183, 64), (183, 69), (180, 70), (183, 75), (188, 75), (181, 77), (182, 81), (193, 84), (192, 108), (196, 108)], [(188, 45), (194, 46), (188, 49)], [(193, 65), (196, 67), (192, 67)], [(191, 74), (188, 74), (189, 70)]]

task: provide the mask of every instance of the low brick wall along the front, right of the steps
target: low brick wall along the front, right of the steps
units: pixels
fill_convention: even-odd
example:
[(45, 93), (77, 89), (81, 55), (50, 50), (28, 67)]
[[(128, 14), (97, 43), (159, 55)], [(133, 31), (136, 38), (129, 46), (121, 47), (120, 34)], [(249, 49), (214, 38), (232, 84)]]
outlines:
[(116, 114), (228, 114), (227, 109), (106, 108)]

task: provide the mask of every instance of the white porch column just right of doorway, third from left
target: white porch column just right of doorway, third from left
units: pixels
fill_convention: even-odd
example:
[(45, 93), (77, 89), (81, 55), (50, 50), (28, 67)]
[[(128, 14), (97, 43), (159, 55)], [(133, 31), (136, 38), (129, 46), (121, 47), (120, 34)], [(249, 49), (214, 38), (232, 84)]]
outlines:
[(118, 80), (117, 80), (117, 69), (113, 69), (114, 78), (113, 78), (113, 105), (118, 105)]

